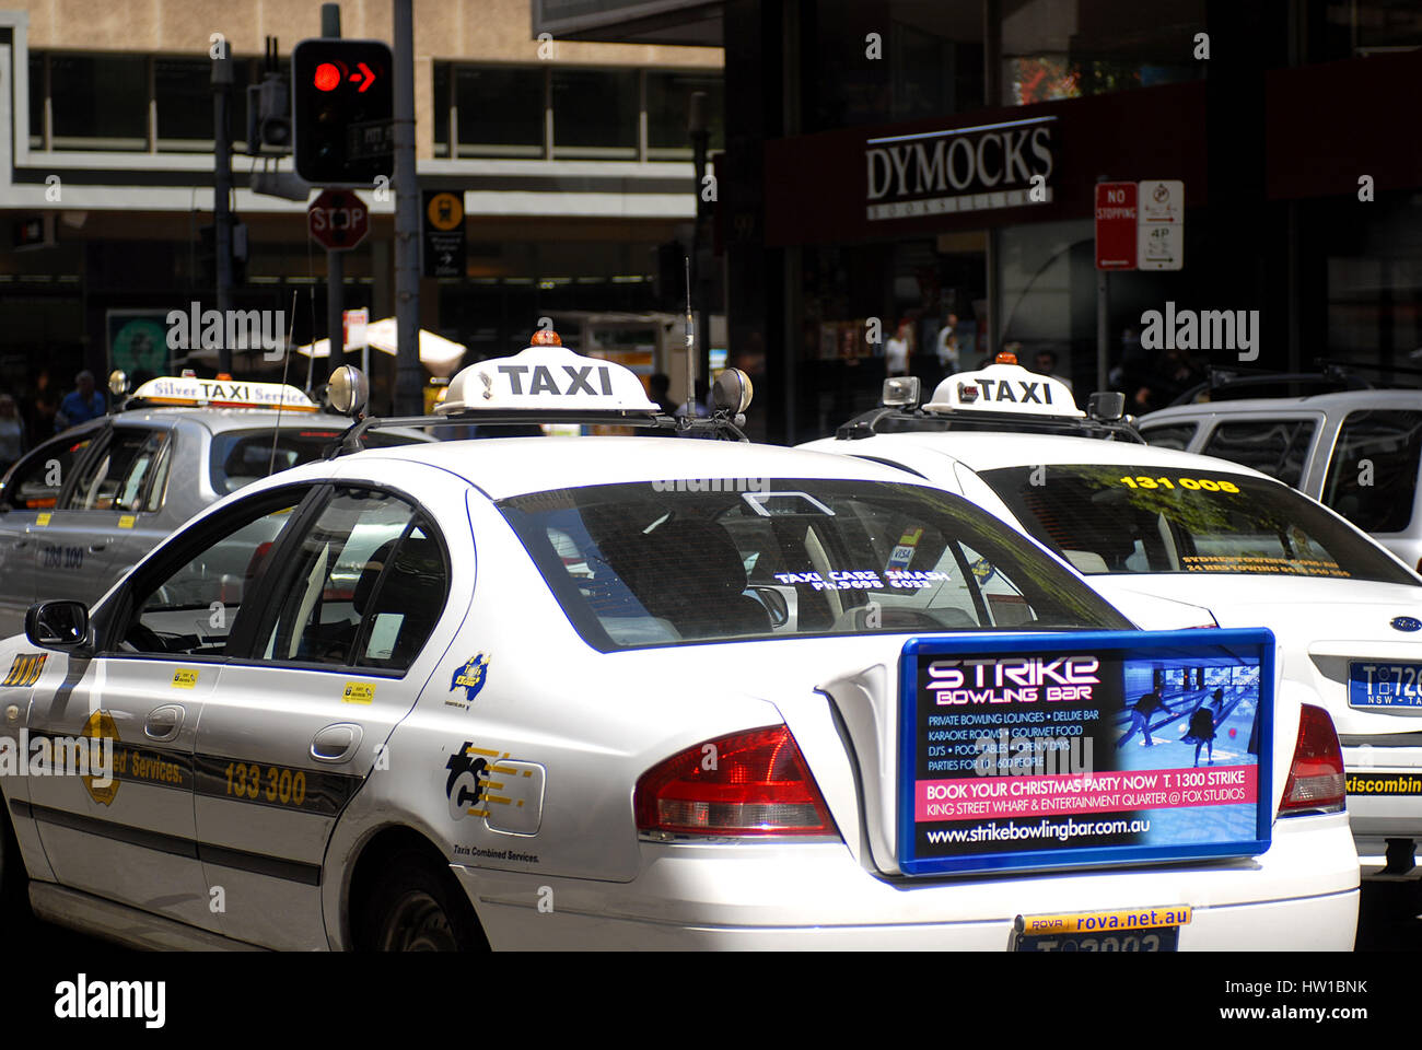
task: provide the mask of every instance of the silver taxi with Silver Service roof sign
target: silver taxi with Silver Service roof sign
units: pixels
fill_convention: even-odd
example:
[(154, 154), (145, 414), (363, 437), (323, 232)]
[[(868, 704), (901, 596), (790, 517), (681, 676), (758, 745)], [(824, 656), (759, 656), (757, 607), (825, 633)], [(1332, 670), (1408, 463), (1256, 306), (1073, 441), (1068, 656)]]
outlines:
[(320, 457), (347, 425), (290, 386), (159, 377), (31, 450), (0, 479), (0, 636), (33, 602), (95, 602), (203, 507)]

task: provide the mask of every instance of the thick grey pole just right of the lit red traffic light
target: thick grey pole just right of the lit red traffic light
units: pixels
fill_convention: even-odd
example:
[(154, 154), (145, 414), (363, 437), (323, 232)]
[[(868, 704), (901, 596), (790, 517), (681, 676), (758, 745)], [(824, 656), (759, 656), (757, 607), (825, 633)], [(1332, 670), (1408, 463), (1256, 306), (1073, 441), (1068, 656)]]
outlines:
[(424, 411), (419, 367), (419, 184), (415, 178), (412, 0), (394, 0), (395, 64), (395, 413)]

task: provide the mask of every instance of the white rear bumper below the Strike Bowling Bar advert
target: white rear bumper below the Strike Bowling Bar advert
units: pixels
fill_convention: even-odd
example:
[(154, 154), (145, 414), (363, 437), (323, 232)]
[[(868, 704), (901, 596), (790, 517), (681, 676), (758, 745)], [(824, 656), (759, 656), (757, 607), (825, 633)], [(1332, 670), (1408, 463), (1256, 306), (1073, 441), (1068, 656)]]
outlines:
[(644, 842), (623, 884), (454, 871), (499, 949), (1001, 952), (1017, 915), (1186, 903), (1182, 950), (1351, 950), (1358, 918), (1342, 814), (1278, 821), (1257, 858), (1069, 875), (883, 879), (838, 842)]

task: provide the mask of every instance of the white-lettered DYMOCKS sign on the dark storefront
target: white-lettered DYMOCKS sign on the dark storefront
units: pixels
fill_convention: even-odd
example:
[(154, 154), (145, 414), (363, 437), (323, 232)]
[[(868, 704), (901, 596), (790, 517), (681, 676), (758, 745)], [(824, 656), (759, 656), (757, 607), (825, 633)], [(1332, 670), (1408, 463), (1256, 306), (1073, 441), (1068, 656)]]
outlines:
[(872, 138), (867, 218), (978, 212), (1052, 199), (1055, 117)]

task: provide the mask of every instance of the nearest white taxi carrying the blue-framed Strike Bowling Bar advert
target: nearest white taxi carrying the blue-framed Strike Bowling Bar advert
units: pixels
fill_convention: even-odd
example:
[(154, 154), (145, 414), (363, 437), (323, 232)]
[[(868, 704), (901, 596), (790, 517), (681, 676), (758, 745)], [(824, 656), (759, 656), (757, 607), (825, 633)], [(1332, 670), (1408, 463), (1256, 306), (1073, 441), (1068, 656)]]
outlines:
[[(444, 411), (734, 434), (744, 377), (717, 390), (671, 420), (533, 346)], [(381, 425), (0, 645), (40, 915), (162, 948), (1351, 948), (1341, 754), (1267, 632), (1135, 630), (879, 464), (356, 451)], [(1185, 679), (1250, 746), (1118, 747)]]

